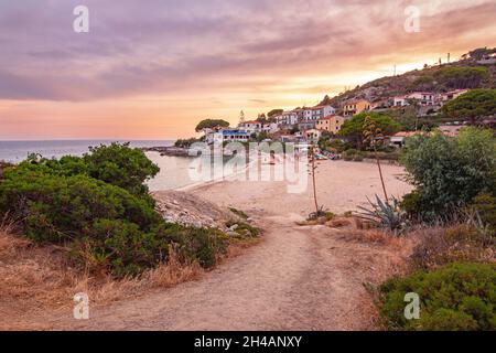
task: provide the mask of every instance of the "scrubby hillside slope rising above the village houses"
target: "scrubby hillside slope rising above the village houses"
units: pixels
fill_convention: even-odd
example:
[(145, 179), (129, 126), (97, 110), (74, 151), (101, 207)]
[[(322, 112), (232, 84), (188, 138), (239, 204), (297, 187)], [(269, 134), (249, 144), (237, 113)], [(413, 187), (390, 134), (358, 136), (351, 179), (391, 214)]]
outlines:
[[(320, 105), (331, 104), (342, 107), (351, 99), (365, 98), (380, 104), (393, 96), (418, 90), (443, 93), (459, 88), (496, 88), (496, 64), (481, 64), (481, 55), (475, 50), (465, 54), (463, 60), (436, 66), (427, 66), (402, 75), (381, 77), (352, 90), (330, 98), (326, 96)], [(486, 50), (494, 55), (496, 49)], [(472, 54), (472, 56), (471, 56)]]

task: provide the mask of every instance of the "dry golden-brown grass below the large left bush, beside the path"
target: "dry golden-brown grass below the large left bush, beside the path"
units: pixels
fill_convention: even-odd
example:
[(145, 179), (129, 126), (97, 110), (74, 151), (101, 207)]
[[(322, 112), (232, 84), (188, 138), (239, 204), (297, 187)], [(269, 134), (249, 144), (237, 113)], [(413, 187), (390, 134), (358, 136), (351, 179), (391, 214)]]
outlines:
[(139, 278), (115, 280), (90, 276), (71, 268), (56, 247), (37, 246), (0, 231), (0, 329), (22, 328), (19, 322), (43, 312), (74, 306), (73, 297), (86, 292), (94, 306), (138, 297), (155, 288), (166, 288), (198, 276), (197, 264), (181, 264), (174, 252), (166, 265), (145, 271)]

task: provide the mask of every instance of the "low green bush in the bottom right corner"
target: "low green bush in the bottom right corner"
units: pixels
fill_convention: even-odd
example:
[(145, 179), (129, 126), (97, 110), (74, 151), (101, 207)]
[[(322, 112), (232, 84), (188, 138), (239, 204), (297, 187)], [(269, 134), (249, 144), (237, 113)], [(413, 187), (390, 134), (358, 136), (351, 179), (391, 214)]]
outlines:
[[(393, 277), (379, 288), (380, 314), (391, 330), (496, 330), (496, 265), (451, 264)], [(420, 319), (405, 318), (405, 296), (420, 297)]]

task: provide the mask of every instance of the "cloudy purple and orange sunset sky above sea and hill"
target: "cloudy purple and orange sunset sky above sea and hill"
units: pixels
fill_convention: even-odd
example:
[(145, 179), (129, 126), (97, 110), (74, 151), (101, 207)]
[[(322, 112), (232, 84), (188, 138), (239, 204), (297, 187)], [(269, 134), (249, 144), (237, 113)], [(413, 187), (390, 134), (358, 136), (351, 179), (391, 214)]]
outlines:
[(0, 0), (0, 140), (192, 137), (204, 118), (235, 125), (496, 46), (495, 13), (495, 0)]

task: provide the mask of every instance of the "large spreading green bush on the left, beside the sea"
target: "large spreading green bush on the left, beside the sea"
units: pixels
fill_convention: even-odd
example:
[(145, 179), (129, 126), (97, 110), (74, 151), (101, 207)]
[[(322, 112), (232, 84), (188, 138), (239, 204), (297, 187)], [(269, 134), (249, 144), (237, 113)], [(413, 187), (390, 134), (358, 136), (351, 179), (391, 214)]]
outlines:
[(157, 171), (142, 160), (144, 154), (118, 145), (91, 152), (96, 156), (33, 158), (7, 168), (0, 179), (0, 215), (17, 221), (33, 240), (71, 247), (76, 261), (117, 277), (165, 263), (171, 246), (185, 261), (204, 267), (226, 250), (222, 232), (169, 224), (155, 212), (139, 184)]

